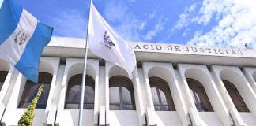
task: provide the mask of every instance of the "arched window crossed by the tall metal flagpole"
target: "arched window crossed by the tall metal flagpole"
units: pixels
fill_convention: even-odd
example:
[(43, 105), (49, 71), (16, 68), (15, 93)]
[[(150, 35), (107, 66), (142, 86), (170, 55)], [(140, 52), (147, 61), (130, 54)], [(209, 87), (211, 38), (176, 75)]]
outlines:
[[(79, 109), (81, 98), (82, 74), (72, 76), (68, 83), (66, 91), (65, 109)], [(94, 109), (94, 85), (95, 82), (91, 76), (85, 77), (85, 98), (84, 109)]]

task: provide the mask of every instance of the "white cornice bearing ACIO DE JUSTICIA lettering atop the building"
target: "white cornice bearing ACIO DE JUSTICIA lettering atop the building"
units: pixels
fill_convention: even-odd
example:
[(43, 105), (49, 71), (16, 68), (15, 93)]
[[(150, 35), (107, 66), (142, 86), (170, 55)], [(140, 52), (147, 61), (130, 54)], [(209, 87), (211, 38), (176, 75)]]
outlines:
[[(214, 46), (189, 46), (170, 43), (128, 43), (137, 61), (161, 61), (206, 65), (256, 66), (256, 50), (246, 48), (220, 48)], [(47, 57), (78, 57), (85, 54), (85, 39), (52, 37), (43, 50)], [(88, 52), (89, 58), (99, 58)]]

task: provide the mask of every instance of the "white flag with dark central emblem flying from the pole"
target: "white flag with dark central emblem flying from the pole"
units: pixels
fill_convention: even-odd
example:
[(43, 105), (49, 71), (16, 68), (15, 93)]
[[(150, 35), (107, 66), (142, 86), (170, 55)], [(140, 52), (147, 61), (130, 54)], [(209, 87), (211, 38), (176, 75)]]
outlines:
[(88, 46), (93, 54), (119, 65), (132, 76), (136, 66), (133, 49), (115, 33), (92, 3), (88, 23)]

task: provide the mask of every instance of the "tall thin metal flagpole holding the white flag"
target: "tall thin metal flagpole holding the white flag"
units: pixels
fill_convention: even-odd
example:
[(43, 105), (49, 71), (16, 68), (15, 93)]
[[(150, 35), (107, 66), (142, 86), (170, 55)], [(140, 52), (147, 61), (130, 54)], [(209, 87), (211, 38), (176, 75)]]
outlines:
[[(90, 11), (91, 11), (92, 0), (90, 0), (90, 7), (88, 13), (88, 25), (89, 25), (89, 18), (90, 18)], [(87, 55), (88, 55), (88, 27), (86, 32), (86, 40), (85, 40), (85, 64), (84, 64), (84, 71), (83, 71), (83, 78), (81, 83), (81, 98), (80, 98), (80, 106), (79, 106), (79, 120), (78, 126), (82, 126), (82, 119), (83, 119), (83, 110), (84, 110), (84, 98), (85, 98), (85, 78), (86, 78), (86, 64), (87, 64)]]

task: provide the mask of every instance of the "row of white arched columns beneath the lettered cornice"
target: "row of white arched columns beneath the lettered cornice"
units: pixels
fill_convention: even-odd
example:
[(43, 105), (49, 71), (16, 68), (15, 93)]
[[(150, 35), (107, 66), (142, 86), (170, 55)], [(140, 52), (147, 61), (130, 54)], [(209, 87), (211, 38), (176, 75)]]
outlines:
[[(59, 65), (59, 58), (43, 57), (40, 72), (53, 75), (47, 108), (37, 109), (36, 124), (77, 125), (78, 110), (64, 109), (66, 89), (71, 76), (82, 73), (83, 59), (67, 59), (66, 65)], [(109, 109), (109, 78), (127, 76), (125, 70), (106, 62), (99, 65), (98, 60), (88, 60), (87, 73), (95, 80), (95, 102), (93, 110), (84, 110), (85, 125), (254, 125), (256, 122), (256, 68), (235, 66), (178, 64), (144, 62), (142, 68), (133, 72), (131, 81), (134, 86), (136, 111), (111, 111)], [(149, 77), (156, 76), (165, 80), (175, 103), (175, 112), (154, 110)], [(186, 78), (198, 80), (209, 97), (214, 112), (198, 112)], [(221, 80), (232, 82), (246, 102), (250, 113), (239, 113), (235, 109), (228, 91)], [(25, 109), (18, 109), (26, 79), (14, 69), (9, 69), (0, 94), (0, 115), (3, 125), (16, 125)], [(132, 117), (136, 115), (136, 119)], [(15, 116), (13, 116), (15, 115)], [(121, 116), (122, 115), (122, 116)], [(130, 117), (127, 117), (129, 116)], [(114, 116), (114, 117), (113, 117)], [(115, 117), (116, 116), (116, 117)], [(126, 118), (125, 118), (126, 117)], [(130, 122), (128, 122), (130, 120)], [(127, 121), (127, 122), (122, 122)]]

